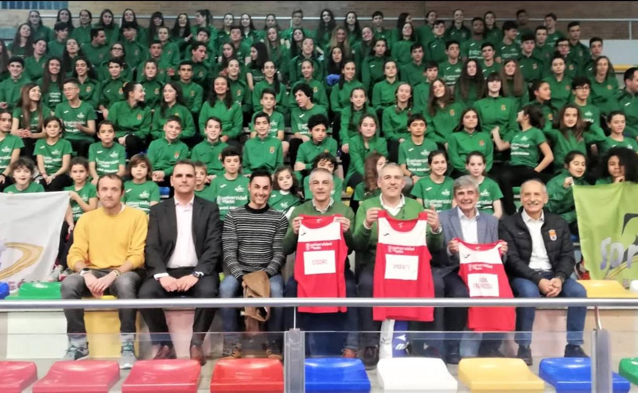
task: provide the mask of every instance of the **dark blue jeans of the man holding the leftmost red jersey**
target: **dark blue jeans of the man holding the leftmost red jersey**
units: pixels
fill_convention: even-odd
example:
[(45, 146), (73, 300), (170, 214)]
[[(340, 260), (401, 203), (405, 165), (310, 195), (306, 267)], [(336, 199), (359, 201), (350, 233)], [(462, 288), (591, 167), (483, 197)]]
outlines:
[[(346, 265), (346, 297), (357, 297), (355, 277), (350, 267)], [(286, 283), (286, 297), (297, 297), (297, 280), (291, 276)], [(286, 310), (286, 329), (292, 328), (292, 318), (295, 309)], [(306, 338), (306, 352), (309, 355), (326, 354), (341, 351), (343, 348), (359, 350), (359, 310), (357, 307), (348, 307), (345, 313), (299, 313), (297, 312), (297, 326), (303, 331), (327, 332), (308, 333)], [(341, 341), (343, 335), (336, 332), (346, 332), (345, 343)], [(329, 345), (333, 343), (334, 345)], [(335, 348), (332, 348), (335, 347)], [(340, 354), (340, 352), (339, 352)]]

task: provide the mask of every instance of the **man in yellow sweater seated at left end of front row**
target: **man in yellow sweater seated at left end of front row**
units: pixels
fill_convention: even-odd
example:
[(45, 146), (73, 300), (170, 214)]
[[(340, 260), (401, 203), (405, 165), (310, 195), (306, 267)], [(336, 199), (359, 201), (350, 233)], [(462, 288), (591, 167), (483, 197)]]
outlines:
[[(144, 265), (144, 246), (148, 218), (142, 210), (121, 203), (124, 182), (115, 174), (98, 180), (97, 210), (84, 213), (75, 225), (73, 245), (67, 257), (68, 266), (77, 272), (62, 282), (63, 299), (104, 294), (119, 299), (137, 299), (142, 283), (138, 270)], [(135, 317), (137, 310), (119, 310), (122, 352), (120, 368), (135, 363)], [(89, 357), (84, 326), (84, 310), (64, 310), (69, 348), (64, 360), (77, 361)]]

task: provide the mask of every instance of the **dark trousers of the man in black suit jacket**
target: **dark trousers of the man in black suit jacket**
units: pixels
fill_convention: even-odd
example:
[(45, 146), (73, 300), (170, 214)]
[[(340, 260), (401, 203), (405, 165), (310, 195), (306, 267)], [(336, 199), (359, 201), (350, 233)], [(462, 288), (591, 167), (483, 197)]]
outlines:
[[(174, 278), (193, 273), (193, 268), (177, 268), (167, 269), (168, 275)], [(209, 299), (217, 297), (219, 288), (219, 275), (212, 274), (203, 276), (199, 281), (186, 292), (167, 292), (161, 286), (159, 280), (153, 277), (147, 278), (140, 288), (140, 299), (168, 299), (170, 297), (195, 297), (196, 299)], [(168, 345), (172, 347), (173, 343), (168, 332), (168, 325), (164, 311), (161, 308), (144, 308), (142, 317), (149, 325), (152, 342), (154, 344)], [(211, 328), (212, 319), (215, 317), (214, 308), (196, 308), (195, 320), (193, 322), (193, 338), (191, 345), (202, 345), (206, 333)]]

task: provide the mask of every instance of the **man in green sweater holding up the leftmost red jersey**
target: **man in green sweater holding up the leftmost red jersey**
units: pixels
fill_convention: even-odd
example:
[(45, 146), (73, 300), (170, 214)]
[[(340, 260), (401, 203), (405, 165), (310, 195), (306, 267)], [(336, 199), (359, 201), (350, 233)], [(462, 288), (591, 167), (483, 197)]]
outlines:
[[(301, 204), (300, 206), (297, 206), (295, 210), (292, 211), (288, 232), (286, 233), (286, 237), (283, 241), (284, 254), (290, 255), (297, 250), (297, 238), (299, 238), (299, 227), (302, 220), (299, 215), (340, 215), (340, 217), (337, 217), (336, 220), (341, 222), (341, 229), (343, 230), (343, 238), (346, 242), (346, 246), (348, 246), (349, 249), (352, 249), (352, 228), (350, 225), (355, 220), (355, 214), (351, 208), (341, 203), (341, 201), (335, 201), (332, 197), (332, 189), (334, 188), (332, 173), (330, 173), (327, 169), (317, 168), (313, 169), (308, 177), (310, 189), (312, 191), (312, 199), (306, 201), (306, 203)], [(299, 255), (297, 255), (297, 258), (299, 259)], [(297, 262), (299, 262), (299, 260)], [(345, 263), (346, 297), (357, 297), (355, 277), (350, 269), (350, 261), (348, 261), (347, 257)], [(290, 277), (290, 280), (286, 283), (286, 297), (297, 297), (297, 280), (295, 280), (295, 277)], [(289, 310), (292, 311), (292, 309)], [(348, 311), (346, 311), (345, 314), (299, 313), (299, 326), (301, 329), (309, 331), (348, 332), (343, 349), (343, 357), (354, 358), (357, 357), (357, 352), (359, 351), (357, 312), (356, 307), (348, 307)], [(286, 317), (289, 317), (290, 315), (292, 315), (292, 312), (286, 313)], [(330, 337), (334, 337), (334, 335), (330, 334)], [(310, 348), (311, 352), (313, 352), (312, 344)]]

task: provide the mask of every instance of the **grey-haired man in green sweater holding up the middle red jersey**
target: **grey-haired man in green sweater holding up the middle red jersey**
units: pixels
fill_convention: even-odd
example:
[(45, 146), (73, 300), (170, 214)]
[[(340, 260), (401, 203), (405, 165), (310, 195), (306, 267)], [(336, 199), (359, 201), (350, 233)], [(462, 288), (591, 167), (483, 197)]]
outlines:
[[(379, 211), (387, 210), (391, 217), (398, 220), (414, 220), (419, 213), (424, 211), (417, 201), (406, 198), (401, 194), (405, 185), (403, 170), (397, 164), (386, 164), (379, 173), (377, 180), (381, 189), (379, 197), (373, 197), (362, 202), (357, 210), (355, 231), (353, 234), (356, 263), (357, 290), (359, 297), (373, 297), (373, 282), (375, 276), (376, 243), (378, 239)], [(443, 248), (443, 229), (439, 223), (435, 210), (427, 211), (427, 247), (431, 254), (435, 254)], [(436, 265), (435, 259), (431, 261)], [(432, 276), (434, 281), (434, 295), (443, 297), (443, 284), (437, 275)], [(410, 330), (441, 331), (442, 318), (437, 315), (439, 309), (435, 309), (434, 324), (431, 322), (414, 322)], [(359, 330), (363, 333), (360, 347), (363, 348), (362, 361), (367, 368), (375, 368), (379, 359), (379, 335), (380, 322), (373, 320), (372, 308), (359, 308)], [(434, 343), (427, 355), (438, 356), (438, 348)], [(427, 348), (427, 349), (430, 349)], [(415, 348), (417, 353), (421, 351)]]

